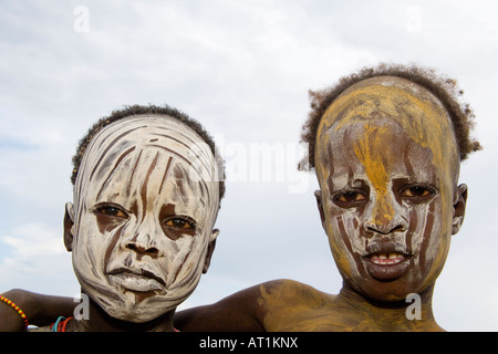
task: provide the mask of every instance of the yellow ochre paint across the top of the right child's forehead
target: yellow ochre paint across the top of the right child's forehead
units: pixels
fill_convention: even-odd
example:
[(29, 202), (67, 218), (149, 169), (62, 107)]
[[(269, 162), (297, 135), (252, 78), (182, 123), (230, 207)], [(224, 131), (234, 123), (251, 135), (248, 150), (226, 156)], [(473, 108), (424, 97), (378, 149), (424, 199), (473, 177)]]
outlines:
[[(349, 126), (364, 125), (364, 134), (357, 138), (369, 140), (367, 131), (383, 124), (398, 126), (409, 139), (424, 148), (428, 147), (434, 166), (457, 168), (458, 147), (443, 104), (418, 84), (393, 76), (361, 81), (329, 106), (317, 133), (315, 160), (326, 158), (324, 153), (331, 144), (335, 145), (338, 134), (344, 134)], [(384, 142), (384, 148), (388, 148), (387, 143)], [(453, 167), (449, 169), (454, 170)]]

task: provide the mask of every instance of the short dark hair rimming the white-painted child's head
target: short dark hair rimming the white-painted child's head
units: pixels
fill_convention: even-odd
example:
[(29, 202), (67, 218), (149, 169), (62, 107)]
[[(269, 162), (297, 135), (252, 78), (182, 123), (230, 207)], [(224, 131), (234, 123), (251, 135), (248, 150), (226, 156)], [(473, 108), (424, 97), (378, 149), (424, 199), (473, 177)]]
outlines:
[(217, 147), (215, 145), (215, 140), (209, 135), (209, 133), (204, 128), (204, 126), (195, 121), (194, 118), (189, 117), (185, 113), (170, 107), (168, 105), (164, 106), (156, 106), (156, 105), (132, 105), (132, 106), (124, 106), (123, 110), (113, 111), (110, 116), (102, 117), (98, 119), (86, 133), (85, 136), (83, 136), (80, 139), (80, 143), (76, 148), (76, 153), (74, 154), (72, 160), (73, 160), (73, 173), (71, 175), (71, 183), (74, 185), (77, 176), (77, 171), (80, 169), (81, 162), (83, 159), (83, 155), (85, 154), (86, 147), (89, 146), (92, 138), (95, 136), (97, 132), (100, 132), (103, 127), (110, 125), (113, 122), (120, 121), (125, 117), (129, 117), (133, 115), (144, 115), (144, 114), (154, 114), (159, 116), (169, 116), (173, 117), (185, 125), (189, 126), (194, 132), (197, 133), (209, 146), (209, 148), (212, 152), (212, 155), (216, 158), (216, 163), (218, 164), (218, 168), (221, 171), (220, 181), (219, 181), (219, 200), (221, 200), (225, 196), (225, 163), (222, 158), (220, 157)]

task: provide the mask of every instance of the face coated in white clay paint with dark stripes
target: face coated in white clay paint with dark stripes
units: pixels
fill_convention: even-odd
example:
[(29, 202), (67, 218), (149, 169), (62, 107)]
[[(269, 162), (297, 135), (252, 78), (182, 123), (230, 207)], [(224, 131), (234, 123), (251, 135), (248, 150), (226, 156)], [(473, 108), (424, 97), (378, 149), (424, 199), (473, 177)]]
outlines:
[(73, 267), (111, 316), (151, 321), (194, 291), (216, 237), (218, 174), (207, 144), (170, 117), (126, 117), (92, 139), (74, 187)]

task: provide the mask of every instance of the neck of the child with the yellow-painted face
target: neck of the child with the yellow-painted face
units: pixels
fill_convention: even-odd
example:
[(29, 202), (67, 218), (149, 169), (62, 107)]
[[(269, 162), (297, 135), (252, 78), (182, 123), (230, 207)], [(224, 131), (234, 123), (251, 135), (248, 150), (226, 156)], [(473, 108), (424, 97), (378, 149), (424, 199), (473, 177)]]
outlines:
[[(434, 319), (433, 291), (434, 285), (418, 294), (421, 300), (418, 303), (405, 300), (380, 302), (364, 298), (344, 282), (338, 299), (364, 319), (363, 331), (444, 331)], [(415, 310), (415, 306), (418, 309)]]

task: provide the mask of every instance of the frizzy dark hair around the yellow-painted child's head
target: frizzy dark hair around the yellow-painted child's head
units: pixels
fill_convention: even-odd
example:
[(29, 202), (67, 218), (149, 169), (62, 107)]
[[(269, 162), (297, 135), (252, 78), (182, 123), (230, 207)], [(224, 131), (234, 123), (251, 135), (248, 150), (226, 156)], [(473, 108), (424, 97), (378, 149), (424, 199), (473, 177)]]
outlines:
[(300, 169), (314, 168), (314, 149), (317, 129), (320, 119), (332, 102), (352, 85), (360, 81), (378, 77), (396, 76), (409, 80), (433, 93), (448, 112), (460, 152), (460, 160), (467, 158), (468, 154), (481, 149), (477, 140), (470, 138), (470, 129), (474, 126), (474, 112), (466, 103), (459, 102), (464, 92), (458, 88), (457, 81), (437, 74), (434, 69), (421, 67), (415, 64), (386, 64), (381, 63), (374, 67), (363, 67), (357, 73), (344, 76), (338, 84), (320, 91), (309, 91), (312, 111), (304, 122), (301, 132), (301, 142), (308, 143), (308, 166), (300, 164)]

